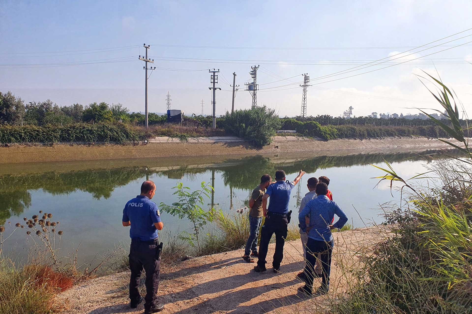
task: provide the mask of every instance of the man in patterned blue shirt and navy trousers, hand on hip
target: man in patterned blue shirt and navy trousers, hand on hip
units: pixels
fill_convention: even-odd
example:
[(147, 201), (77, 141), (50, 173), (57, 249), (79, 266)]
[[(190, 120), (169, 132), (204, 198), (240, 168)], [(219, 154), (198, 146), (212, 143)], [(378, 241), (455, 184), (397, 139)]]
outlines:
[[(331, 254), (333, 252), (333, 235), (331, 229), (341, 229), (347, 222), (347, 216), (344, 211), (334, 202), (330, 201), (326, 196), (328, 193), (328, 185), (318, 183), (316, 185), (317, 198), (309, 201), (305, 208), (298, 214), (298, 221), (302, 231), (307, 231), (305, 217), (310, 216), (310, 225), (308, 226), (308, 242), (307, 242), (307, 267), (306, 284), (303, 292), (311, 295), (313, 289), (313, 273), (318, 253), (320, 254), (322, 275), (320, 293), (327, 293), (329, 290), (329, 272), (331, 270)], [(334, 215), (339, 220), (333, 224), (329, 223), (333, 220)]]

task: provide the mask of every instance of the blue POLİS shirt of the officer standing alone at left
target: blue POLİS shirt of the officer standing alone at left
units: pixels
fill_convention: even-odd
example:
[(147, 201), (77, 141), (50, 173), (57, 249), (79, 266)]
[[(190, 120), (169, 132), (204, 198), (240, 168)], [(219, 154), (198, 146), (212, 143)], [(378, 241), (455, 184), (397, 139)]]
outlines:
[(161, 222), (159, 209), (147, 196), (138, 195), (126, 203), (123, 209), (123, 222), (131, 222), (129, 236), (142, 241), (159, 237), (154, 223)]

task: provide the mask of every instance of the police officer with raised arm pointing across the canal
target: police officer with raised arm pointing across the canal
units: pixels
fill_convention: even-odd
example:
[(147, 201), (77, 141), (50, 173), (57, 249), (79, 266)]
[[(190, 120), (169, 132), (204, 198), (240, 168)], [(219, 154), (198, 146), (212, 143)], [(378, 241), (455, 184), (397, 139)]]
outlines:
[[(293, 187), (300, 181), (305, 174), (300, 170), (298, 176), (292, 182), (285, 181), (285, 171), (277, 170), (275, 172), (275, 183), (269, 185), (266, 193), (262, 196), (262, 211), (264, 213), (265, 222), (261, 230), (261, 243), (259, 245), (259, 259), (257, 266), (254, 267), (256, 272), (265, 272), (267, 261), (267, 250), (272, 234), (275, 233), (275, 253), (272, 261), (274, 273), (280, 269), (280, 263), (284, 258), (284, 244), (287, 238), (287, 227), (289, 222), (288, 202), (290, 201), (290, 193)], [(267, 199), (270, 197), (269, 209), (267, 209)]]

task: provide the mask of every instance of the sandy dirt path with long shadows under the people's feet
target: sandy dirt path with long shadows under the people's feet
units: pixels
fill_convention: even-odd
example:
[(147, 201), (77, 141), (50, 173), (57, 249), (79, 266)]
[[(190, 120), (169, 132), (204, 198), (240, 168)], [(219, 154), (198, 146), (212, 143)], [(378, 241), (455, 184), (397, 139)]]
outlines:
[[(275, 244), (269, 247), (265, 273), (255, 273), (255, 264), (241, 259), (244, 250), (193, 258), (173, 268), (162, 268), (158, 296), (165, 309), (161, 313), (322, 313), (326, 303), (333, 302), (353, 283), (349, 270), (359, 266), (359, 257), (385, 239), (387, 231), (371, 227), (333, 235), (335, 250), (328, 295), (308, 298), (297, 291), (303, 283), (295, 275), (304, 262), (302, 244), (296, 240), (285, 244), (279, 274), (269, 268)], [(68, 309), (63, 313), (143, 313), (143, 305), (136, 310), (128, 306), (128, 281), (129, 273), (119, 273), (83, 282), (59, 296), (67, 302)], [(319, 287), (320, 279), (313, 286)]]

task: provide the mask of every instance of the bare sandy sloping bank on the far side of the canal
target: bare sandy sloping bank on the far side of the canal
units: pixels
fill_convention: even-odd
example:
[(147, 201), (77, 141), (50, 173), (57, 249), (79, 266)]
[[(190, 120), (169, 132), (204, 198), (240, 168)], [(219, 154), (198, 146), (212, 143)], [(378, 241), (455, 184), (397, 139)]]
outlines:
[[(459, 144), (452, 140), (453, 143)], [(459, 144), (460, 145), (460, 144)], [(447, 147), (446, 144), (426, 138), (383, 138), (383, 139), (338, 139), (322, 141), (297, 137), (274, 137), (272, 144), (260, 149), (244, 141), (231, 142), (192, 142), (153, 141), (147, 145), (13, 145), (0, 147), (0, 164), (45, 161), (92, 161), (129, 158), (162, 158), (182, 156), (238, 155), (238, 154), (277, 154), (300, 152), (300, 155), (313, 151), (412, 147), (428, 149)]]

